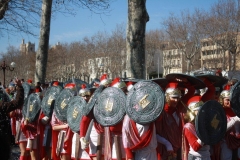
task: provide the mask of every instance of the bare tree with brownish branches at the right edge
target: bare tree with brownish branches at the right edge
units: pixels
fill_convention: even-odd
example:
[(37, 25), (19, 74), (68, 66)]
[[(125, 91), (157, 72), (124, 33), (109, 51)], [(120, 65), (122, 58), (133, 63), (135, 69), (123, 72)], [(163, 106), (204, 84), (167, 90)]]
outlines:
[(230, 53), (229, 70), (236, 67), (236, 53), (239, 40), (240, 10), (234, 0), (220, 0), (214, 4), (201, 24), (209, 41), (216, 44), (223, 52), (222, 69), (226, 69), (226, 53)]

